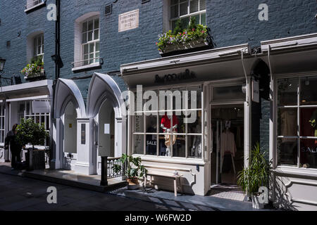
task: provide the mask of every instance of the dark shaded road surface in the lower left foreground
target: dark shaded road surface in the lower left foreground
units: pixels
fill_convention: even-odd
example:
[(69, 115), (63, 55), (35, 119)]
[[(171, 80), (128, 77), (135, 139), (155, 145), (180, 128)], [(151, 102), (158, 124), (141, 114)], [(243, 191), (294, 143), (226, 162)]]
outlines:
[[(47, 203), (46, 198), (49, 193), (46, 190), (49, 186), (57, 189), (56, 204)], [(182, 211), (187, 209), (0, 174), (0, 210)]]

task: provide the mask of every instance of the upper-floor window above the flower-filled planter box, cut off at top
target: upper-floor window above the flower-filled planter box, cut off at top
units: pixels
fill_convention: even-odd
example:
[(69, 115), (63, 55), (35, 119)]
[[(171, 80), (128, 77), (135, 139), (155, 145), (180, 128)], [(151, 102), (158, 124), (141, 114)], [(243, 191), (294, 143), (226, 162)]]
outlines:
[(174, 30), (176, 22), (182, 22), (182, 28), (189, 25), (190, 18), (196, 23), (206, 25), (206, 0), (170, 0), (170, 28)]

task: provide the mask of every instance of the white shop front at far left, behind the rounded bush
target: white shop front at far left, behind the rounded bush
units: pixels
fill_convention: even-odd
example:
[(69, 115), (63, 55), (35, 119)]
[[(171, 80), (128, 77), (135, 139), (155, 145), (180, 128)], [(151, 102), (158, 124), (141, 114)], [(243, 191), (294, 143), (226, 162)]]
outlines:
[[(20, 124), (20, 120), (32, 119), (43, 123), (46, 131), (51, 134), (51, 105), (52, 80), (45, 79), (37, 82), (27, 82), (3, 86), (0, 89), (0, 161), (11, 160), (10, 149), (4, 149), (6, 134), (13, 124)], [(48, 149), (50, 139), (44, 141), (44, 146), (35, 146), (37, 149)], [(32, 146), (25, 146), (31, 148)], [(26, 150), (21, 152), (21, 159), (25, 160)], [(49, 155), (46, 155), (46, 160)]]

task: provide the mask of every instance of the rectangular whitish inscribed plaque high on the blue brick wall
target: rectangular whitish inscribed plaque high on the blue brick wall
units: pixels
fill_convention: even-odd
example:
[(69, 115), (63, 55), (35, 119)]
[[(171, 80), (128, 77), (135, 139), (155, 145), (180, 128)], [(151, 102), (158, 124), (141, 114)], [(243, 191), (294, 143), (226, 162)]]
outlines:
[(119, 32), (139, 27), (139, 9), (119, 15)]

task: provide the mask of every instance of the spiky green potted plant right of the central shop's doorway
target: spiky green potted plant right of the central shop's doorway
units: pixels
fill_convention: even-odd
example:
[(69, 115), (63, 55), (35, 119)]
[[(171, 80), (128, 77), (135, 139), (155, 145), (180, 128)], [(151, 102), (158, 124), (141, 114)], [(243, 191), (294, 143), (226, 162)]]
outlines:
[(266, 160), (266, 153), (261, 152), (260, 144), (256, 143), (251, 151), (251, 164), (249, 168), (244, 168), (238, 173), (237, 184), (242, 187), (242, 191), (251, 197), (252, 207), (263, 208), (264, 204), (259, 203), (259, 188), (268, 186), (270, 164)]

